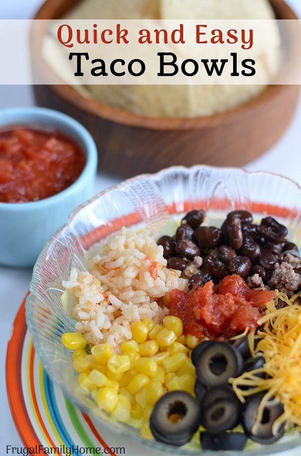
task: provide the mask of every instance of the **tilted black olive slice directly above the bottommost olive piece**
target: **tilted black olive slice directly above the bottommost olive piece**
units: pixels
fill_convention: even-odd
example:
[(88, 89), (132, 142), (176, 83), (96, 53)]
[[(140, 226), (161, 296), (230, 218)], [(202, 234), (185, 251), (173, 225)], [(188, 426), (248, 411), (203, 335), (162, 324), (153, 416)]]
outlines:
[(240, 419), (241, 407), (238, 399), (221, 399), (202, 409), (202, 424), (212, 434), (233, 429)]

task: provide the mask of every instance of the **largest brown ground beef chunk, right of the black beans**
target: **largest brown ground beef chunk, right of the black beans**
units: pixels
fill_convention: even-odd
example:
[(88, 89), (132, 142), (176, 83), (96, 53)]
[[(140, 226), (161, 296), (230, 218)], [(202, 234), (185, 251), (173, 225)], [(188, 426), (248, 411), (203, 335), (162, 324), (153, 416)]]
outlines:
[[(294, 262), (295, 257), (288, 254), (285, 258), (288, 256), (292, 257)], [(292, 258), (287, 259), (292, 261)], [(295, 265), (288, 263), (287, 261), (283, 261), (281, 264), (276, 263), (275, 270), (270, 279), (270, 286), (291, 296), (293, 292), (301, 287), (301, 274), (298, 272), (299, 268), (299, 263), (296, 263)]]

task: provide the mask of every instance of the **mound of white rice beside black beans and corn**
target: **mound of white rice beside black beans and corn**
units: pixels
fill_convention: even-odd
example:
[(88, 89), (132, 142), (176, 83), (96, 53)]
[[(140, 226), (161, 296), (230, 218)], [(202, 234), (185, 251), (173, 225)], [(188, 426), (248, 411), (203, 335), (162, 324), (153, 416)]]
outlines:
[(166, 267), (163, 247), (153, 236), (125, 228), (95, 245), (87, 270), (72, 269), (62, 285), (77, 301), (75, 328), (88, 342), (108, 342), (116, 351), (131, 338), (130, 324), (145, 317), (160, 323), (168, 314), (169, 292), (186, 290), (181, 272)]

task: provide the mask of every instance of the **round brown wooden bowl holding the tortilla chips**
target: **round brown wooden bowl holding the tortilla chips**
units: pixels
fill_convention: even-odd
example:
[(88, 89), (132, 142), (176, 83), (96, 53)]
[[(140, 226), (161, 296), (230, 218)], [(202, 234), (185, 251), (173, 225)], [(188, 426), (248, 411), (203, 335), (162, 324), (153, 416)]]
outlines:
[[(36, 19), (58, 19), (77, 2), (47, 0)], [(271, 4), (278, 19), (297, 19), (283, 0), (271, 0)], [(292, 65), (299, 50), (293, 36), (288, 41)], [(42, 59), (38, 46), (32, 60), (34, 71), (39, 71)], [(287, 66), (285, 70), (289, 73)], [(297, 105), (299, 86), (270, 85), (236, 109), (193, 119), (135, 115), (88, 99), (71, 85), (35, 85), (34, 93), (39, 106), (63, 111), (90, 131), (101, 170), (128, 177), (177, 164), (244, 165), (283, 135)]]

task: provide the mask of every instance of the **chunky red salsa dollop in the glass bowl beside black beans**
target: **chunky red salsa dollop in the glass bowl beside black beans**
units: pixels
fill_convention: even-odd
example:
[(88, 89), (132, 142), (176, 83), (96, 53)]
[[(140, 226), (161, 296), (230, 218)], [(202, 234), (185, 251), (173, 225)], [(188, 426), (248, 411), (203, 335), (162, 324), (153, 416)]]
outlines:
[(169, 313), (181, 318), (186, 334), (199, 339), (227, 339), (246, 327), (255, 330), (260, 318), (257, 307), (274, 296), (273, 291), (251, 290), (240, 276), (233, 274), (218, 286), (210, 280), (189, 293), (172, 290)]

